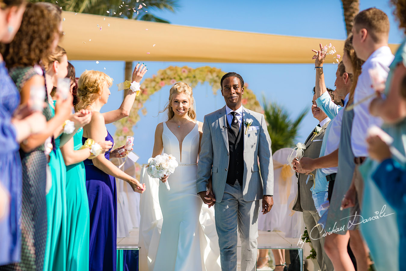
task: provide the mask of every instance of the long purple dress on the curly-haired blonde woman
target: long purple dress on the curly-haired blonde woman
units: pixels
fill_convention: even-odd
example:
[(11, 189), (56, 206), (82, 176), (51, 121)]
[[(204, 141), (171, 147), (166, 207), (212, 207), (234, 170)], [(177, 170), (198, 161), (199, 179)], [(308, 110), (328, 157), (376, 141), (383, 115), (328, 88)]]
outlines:
[[(82, 137), (84, 143), (87, 138)], [(114, 140), (107, 131), (106, 141)], [(110, 159), (111, 149), (104, 154)], [(117, 189), (113, 176), (84, 160), (86, 191), (90, 210), (89, 270), (116, 270)]]

